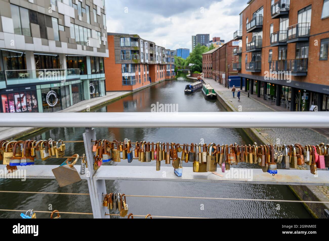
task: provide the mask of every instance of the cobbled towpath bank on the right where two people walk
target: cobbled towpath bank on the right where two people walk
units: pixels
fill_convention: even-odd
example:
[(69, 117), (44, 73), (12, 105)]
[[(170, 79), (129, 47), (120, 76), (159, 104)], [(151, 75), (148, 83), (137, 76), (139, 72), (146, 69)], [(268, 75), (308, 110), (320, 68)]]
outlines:
[[(191, 78), (194, 79), (194, 78)], [(210, 84), (216, 94), (217, 99), (226, 111), (276, 111), (275, 109), (259, 102), (256, 99), (248, 98), (242, 91), (240, 92), (240, 102), (238, 98), (233, 98), (231, 89), (227, 89), (213, 79), (205, 78), (204, 82)], [(237, 89), (238, 90), (238, 89)], [(246, 135), (257, 143), (329, 143), (329, 139), (324, 135), (310, 128), (241, 128)], [(309, 166), (299, 167), (309, 169)], [(279, 169), (279, 168), (278, 168)], [(327, 186), (291, 186), (291, 191), (299, 200), (303, 201), (329, 201), (329, 188)], [(328, 218), (329, 204), (303, 203), (304, 207), (315, 218)]]

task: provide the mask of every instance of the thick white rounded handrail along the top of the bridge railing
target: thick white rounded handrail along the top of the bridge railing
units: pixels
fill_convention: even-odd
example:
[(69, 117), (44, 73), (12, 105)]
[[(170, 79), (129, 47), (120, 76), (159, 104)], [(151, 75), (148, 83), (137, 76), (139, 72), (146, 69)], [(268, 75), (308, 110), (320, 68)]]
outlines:
[(0, 127), (329, 128), (329, 112), (0, 113)]

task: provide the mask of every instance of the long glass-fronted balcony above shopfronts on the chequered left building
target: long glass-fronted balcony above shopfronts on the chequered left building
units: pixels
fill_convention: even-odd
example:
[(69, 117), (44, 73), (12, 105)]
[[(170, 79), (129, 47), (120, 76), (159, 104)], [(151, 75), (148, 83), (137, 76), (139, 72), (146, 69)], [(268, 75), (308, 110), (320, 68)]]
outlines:
[(80, 69), (5, 70), (6, 85), (80, 79)]

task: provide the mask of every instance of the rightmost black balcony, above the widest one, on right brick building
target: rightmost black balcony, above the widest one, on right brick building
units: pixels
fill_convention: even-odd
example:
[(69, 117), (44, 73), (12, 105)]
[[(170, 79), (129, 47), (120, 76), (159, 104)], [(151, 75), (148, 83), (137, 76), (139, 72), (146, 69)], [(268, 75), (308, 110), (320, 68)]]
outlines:
[(287, 43), (308, 41), (310, 37), (310, 23), (297, 23), (287, 28)]

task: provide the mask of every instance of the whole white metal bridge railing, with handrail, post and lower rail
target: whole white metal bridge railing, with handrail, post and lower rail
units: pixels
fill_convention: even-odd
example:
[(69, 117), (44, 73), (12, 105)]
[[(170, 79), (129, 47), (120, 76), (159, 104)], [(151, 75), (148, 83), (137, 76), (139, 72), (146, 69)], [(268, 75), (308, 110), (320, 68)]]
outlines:
[[(115, 116), (115, 118), (112, 118)], [(0, 113), (1, 127), (86, 127), (83, 133), (88, 168), (81, 179), (87, 180), (94, 218), (109, 218), (109, 210), (102, 206), (102, 194), (108, 193), (105, 180), (143, 180), (143, 181), (177, 181), (177, 182), (218, 182), (280, 185), (316, 185), (329, 184), (329, 171), (318, 170), (312, 175), (309, 170), (285, 170), (272, 176), (262, 169), (252, 169), (253, 178), (218, 177), (211, 172), (193, 172), (192, 167), (184, 167), (182, 177), (173, 173), (170, 166), (162, 166), (156, 171), (151, 166), (116, 166), (102, 165), (93, 169), (94, 153), (92, 140), (96, 138), (93, 127), (305, 127), (328, 128), (329, 112), (120, 112), (120, 113)], [(124, 160), (123, 160), (124, 161)], [(52, 169), (57, 165), (18, 166), (26, 169), (26, 178), (54, 179)], [(80, 166), (75, 165), (77, 171)], [(6, 165), (0, 165), (6, 170)], [(240, 168), (236, 168), (240, 169)], [(163, 171), (166, 172), (165, 177)], [(12, 174), (10, 174), (12, 175)]]

